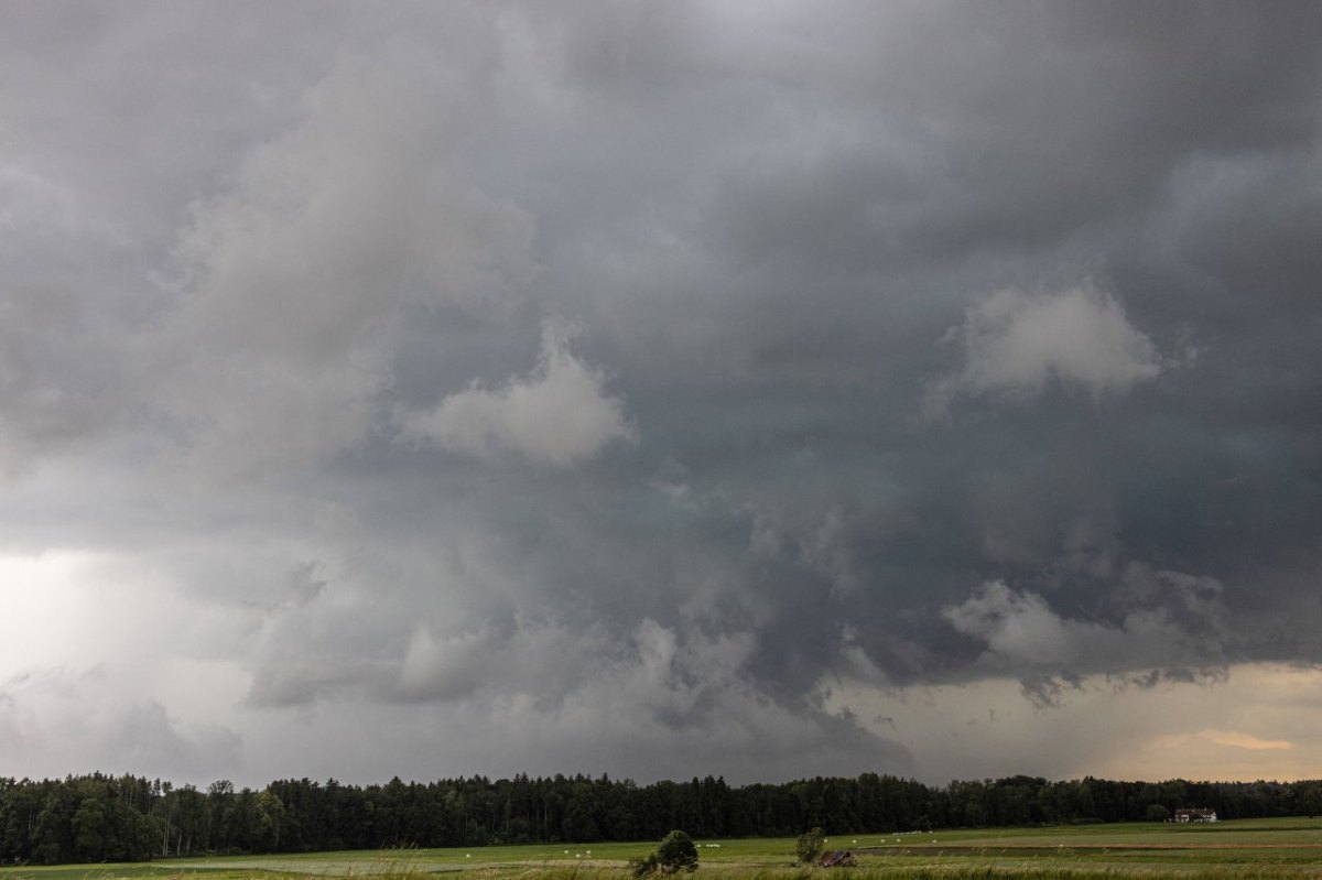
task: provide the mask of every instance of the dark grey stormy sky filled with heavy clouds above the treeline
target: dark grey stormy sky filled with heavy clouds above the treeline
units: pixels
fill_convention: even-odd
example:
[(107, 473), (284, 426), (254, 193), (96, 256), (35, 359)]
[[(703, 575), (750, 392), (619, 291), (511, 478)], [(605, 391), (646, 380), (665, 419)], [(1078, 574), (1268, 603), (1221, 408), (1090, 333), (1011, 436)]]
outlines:
[(0, 7), (0, 776), (1317, 777), (1322, 4)]

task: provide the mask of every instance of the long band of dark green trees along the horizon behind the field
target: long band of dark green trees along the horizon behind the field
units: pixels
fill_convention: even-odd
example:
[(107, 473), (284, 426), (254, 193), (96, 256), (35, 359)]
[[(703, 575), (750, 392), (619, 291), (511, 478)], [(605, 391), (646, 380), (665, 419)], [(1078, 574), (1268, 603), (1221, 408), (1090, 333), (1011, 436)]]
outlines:
[(395, 846), (789, 836), (821, 826), (866, 834), (1165, 818), (1212, 807), (1223, 819), (1322, 813), (1322, 782), (1112, 782), (1017, 776), (933, 788), (865, 773), (779, 785), (555, 776), (342, 785), (282, 780), (205, 791), (134, 776), (0, 778), (0, 863), (128, 862), (209, 852)]

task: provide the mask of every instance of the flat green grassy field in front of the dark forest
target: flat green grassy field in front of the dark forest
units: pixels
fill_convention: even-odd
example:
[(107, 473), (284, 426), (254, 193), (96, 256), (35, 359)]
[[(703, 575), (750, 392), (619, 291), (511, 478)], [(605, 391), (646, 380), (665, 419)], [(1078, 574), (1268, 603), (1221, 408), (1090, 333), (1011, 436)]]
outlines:
[[(467, 871), (475, 880), (602, 880), (627, 876), (624, 863), (653, 843), (385, 850), (280, 856), (164, 859), (145, 864), (0, 868), (0, 880), (308, 880)], [(795, 842), (699, 840), (701, 873), (724, 880), (791, 880), (843, 873), (871, 877), (1322, 877), (1322, 819), (1218, 825), (1096, 825), (932, 834), (843, 835), (828, 848), (858, 854), (857, 868), (793, 867)]]

